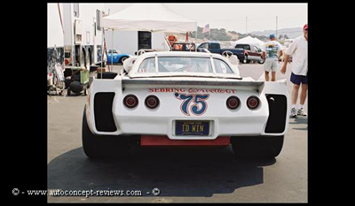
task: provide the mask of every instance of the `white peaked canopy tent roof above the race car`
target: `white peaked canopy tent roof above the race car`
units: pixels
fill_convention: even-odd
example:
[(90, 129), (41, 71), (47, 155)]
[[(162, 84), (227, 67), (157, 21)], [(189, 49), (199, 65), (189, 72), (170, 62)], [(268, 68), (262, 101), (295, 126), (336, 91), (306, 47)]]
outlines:
[(195, 31), (197, 22), (162, 4), (133, 4), (102, 19), (102, 26), (122, 31)]

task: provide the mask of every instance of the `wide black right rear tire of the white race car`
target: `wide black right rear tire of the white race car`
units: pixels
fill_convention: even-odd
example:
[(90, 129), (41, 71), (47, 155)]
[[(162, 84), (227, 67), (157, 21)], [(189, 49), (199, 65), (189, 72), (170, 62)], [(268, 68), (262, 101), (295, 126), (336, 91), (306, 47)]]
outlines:
[(274, 158), (279, 156), (284, 136), (232, 137), (231, 143), (237, 158)]

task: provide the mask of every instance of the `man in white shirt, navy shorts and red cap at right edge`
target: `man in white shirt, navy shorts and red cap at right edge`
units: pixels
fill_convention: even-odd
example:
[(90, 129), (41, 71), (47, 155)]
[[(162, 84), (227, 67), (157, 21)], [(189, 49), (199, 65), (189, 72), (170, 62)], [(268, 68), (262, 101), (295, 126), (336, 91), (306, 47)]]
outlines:
[[(291, 118), (299, 116), (306, 116), (304, 113), (304, 102), (308, 90), (308, 24), (304, 25), (304, 35), (297, 37), (288, 50), (285, 51), (285, 62), (281, 68), (281, 73), (285, 74), (288, 65), (288, 58), (292, 55), (292, 73), (291, 82), (294, 84), (292, 89), (292, 109)], [(296, 103), (298, 98), (298, 90), (301, 87), (300, 107), (296, 111)]]

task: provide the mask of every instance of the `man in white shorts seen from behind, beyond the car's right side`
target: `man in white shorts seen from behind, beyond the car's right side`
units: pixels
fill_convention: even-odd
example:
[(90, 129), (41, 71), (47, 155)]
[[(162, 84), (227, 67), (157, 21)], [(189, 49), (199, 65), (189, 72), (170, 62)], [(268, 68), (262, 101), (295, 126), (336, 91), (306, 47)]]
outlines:
[(275, 34), (270, 34), (270, 41), (263, 46), (263, 59), (265, 80), (269, 81), (269, 72), (272, 72), (272, 81), (276, 80), (276, 71), (279, 68), (279, 58), (282, 56), (282, 46), (276, 42)]

